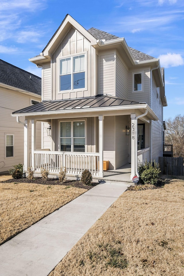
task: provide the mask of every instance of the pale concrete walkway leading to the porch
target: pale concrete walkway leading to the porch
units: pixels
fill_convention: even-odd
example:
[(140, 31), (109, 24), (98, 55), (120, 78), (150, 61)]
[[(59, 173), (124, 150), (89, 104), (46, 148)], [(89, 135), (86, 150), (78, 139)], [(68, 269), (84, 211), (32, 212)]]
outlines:
[(0, 246), (1, 276), (47, 276), (130, 183), (101, 183)]

